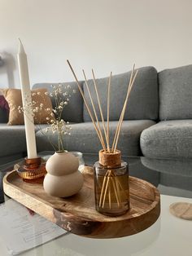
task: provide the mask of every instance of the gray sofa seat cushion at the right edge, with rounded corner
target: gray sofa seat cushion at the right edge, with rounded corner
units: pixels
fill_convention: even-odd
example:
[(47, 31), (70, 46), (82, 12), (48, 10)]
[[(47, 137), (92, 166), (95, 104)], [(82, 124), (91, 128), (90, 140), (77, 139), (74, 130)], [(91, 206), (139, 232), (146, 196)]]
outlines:
[(192, 157), (192, 120), (159, 121), (142, 131), (140, 144), (146, 157)]

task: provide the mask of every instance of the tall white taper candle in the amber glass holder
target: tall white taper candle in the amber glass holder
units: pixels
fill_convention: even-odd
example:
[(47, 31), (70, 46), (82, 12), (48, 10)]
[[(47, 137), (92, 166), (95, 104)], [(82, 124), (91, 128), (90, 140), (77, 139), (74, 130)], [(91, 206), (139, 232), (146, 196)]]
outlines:
[[(19, 52), (17, 55), (17, 60), (19, 64), (19, 72), (20, 72), (20, 85), (21, 85), (21, 95), (23, 106), (28, 108), (28, 106), (32, 106), (32, 98), (31, 98), (31, 90), (30, 90), (30, 82), (28, 77), (28, 60), (27, 55), (24, 51), (24, 46), (20, 41)], [(24, 111), (24, 126), (25, 126), (25, 135), (27, 142), (27, 152), (28, 158), (36, 158), (37, 157), (37, 147), (36, 147), (36, 139), (35, 139), (35, 126), (33, 121), (33, 111), (31, 108), (28, 108), (28, 111)]]

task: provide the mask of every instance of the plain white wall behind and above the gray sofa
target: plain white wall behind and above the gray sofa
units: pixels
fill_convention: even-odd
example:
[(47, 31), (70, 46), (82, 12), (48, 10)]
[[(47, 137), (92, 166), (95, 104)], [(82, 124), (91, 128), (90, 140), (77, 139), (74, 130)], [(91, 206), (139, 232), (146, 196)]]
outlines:
[(190, 0), (0, 0), (0, 87), (20, 87), (18, 39), (28, 55), (31, 84), (72, 81), (153, 65), (192, 64)]

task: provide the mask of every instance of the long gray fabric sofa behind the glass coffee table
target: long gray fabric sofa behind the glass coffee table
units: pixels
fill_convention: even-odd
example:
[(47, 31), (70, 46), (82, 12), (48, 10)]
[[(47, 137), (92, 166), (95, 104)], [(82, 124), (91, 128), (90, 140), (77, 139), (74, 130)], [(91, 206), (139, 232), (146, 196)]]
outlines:
[[(110, 139), (112, 140), (120, 111), (124, 103), (130, 72), (115, 75), (111, 81)], [(107, 81), (97, 79), (98, 91), (107, 118)], [(97, 153), (101, 148), (94, 126), (90, 121), (85, 104), (76, 82), (76, 89), (63, 119), (72, 126), (71, 136), (64, 139), (68, 151)], [(33, 88), (46, 87), (50, 83), (35, 84)], [(89, 100), (85, 82), (81, 82), (85, 98)], [(96, 102), (93, 80), (89, 88)], [(154, 67), (139, 68), (131, 92), (128, 108), (124, 115), (118, 148), (126, 156), (150, 158), (192, 157), (192, 65), (157, 72)], [(53, 102), (54, 104), (54, 102)], [(6, 113), (0, 109), (0, 165), (26, 155), (24, 126), (7, 126)], [(46, 125), (45, 125), (46, 126)], [(37, 151), (53, 150), (46, 137), (37, 127)], [(56, 138), (55, 138), (56, 139)]]

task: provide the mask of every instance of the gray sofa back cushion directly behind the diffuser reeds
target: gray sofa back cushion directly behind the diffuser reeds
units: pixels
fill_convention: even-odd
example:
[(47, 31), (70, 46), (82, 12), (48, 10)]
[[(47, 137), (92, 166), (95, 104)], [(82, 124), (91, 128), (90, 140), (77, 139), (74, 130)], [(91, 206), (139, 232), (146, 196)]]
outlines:
[[(129, 78), (131, 72), (122, 73), (112, 76), (111, 78), (111, 105), (110, 120), (117, 121), (124, 104), (127, 93)], [(98, 85), (98, 94), (103, 108), (103, 116), (107, 120), (107, 84), (108, 77), (96, 79)], [(98, 111), (97, 97), (94, 90), (94, 81), (89, 80), (89, 90), (93, 96), (94, 105)], [(90, 106), (89, 93), (86, 89), (85, 82), (83, 84), (85, 99)], [(133, 85), (133, 90), (129, 97), (127, 110), (124, 114), (124, 120), (156, 120), (159, 113), (159, 96), (157, 84), (157, 71), (153, 67), (138, 68), (137, 77)], [(98, 114), (99, 120), (101, 120)], [(84, 105), (84, 121), (90, 121), (89, 113)]]

